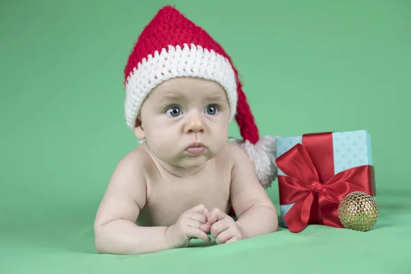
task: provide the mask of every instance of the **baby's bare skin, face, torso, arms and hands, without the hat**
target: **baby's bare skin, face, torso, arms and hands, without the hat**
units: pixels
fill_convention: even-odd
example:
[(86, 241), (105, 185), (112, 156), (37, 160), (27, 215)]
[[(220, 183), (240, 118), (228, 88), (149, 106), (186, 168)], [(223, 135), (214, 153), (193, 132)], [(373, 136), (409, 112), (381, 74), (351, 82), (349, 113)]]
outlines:
[[(164, 99), (170, 92), (179, 99)], [(227, 142), (224, 94), (214, 82), (189, 78), (152, 91), (134, 131), (146, 142), (116, 166), (97, 212), (99, 253), (187, 247), (191, 238), (210, 241), (209, 233), (222, 244), (277, 230), (277, 212), (249, 158)], [(193, 142), (203, 152), (189, 152)], [(227, 215), (230, 203), (238, 221)]]

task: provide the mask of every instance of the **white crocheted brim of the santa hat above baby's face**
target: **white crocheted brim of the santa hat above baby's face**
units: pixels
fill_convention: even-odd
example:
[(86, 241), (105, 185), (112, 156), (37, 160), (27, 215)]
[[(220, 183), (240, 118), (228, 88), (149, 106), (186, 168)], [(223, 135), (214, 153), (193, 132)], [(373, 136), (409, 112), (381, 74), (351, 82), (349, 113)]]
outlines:
[(169, 45), (161, 53), (155, 51), (138, 63), (125, 83), (125, 120), (134, 128), (141, 105), (149, 92), (158, 84), (175, 77), (200, 77), (215, 81), (226, 91), (230, 118), (236, 114), (236, 77), (231, 64), (223, 55), (191, 44), (183, 48)]

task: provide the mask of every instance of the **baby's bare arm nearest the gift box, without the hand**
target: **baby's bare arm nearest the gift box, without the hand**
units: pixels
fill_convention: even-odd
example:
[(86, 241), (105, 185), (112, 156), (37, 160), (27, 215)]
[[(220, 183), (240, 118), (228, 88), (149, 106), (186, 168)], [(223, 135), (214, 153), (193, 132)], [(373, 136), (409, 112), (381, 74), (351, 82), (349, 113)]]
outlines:
[(277, 212), (266, 191), (258, 182), (253, 165), (245, 151), (233, 147), (234, 167), (230, 198), (242, 237), (251, 238), (275, 232), (278, 227)]

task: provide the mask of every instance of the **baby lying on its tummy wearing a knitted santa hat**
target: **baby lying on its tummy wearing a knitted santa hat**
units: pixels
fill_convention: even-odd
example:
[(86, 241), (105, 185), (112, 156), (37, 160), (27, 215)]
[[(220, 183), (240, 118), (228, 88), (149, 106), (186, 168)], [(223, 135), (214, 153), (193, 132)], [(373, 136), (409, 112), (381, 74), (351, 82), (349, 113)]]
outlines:
[[(209, 234), (221, 244), (277, 230), (264, 189), (277, 175), (275, 138), (259, 139), (231, 59), (201, 27), (162, 8), (129, 55), (125, 88), (125, 119), (141, 145), (120, 160), (99, 206), (99, 253), (152, 253), (187, 247), (191, 238), (209, 242)], [(233, 118), (244, 138), (234, 143)]]

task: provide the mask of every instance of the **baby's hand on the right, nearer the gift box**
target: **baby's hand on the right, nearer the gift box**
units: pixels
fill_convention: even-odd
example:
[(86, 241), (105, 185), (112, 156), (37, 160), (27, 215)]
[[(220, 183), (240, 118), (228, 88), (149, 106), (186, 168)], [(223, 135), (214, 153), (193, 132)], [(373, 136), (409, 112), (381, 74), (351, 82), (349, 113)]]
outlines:
[(210, 211), (208, 223), (211, 225), (211, 235), (216, 239), (217, 244), (242, 239), (240, 227), (238, 227), (236, 221), (218, 208), (213, 208)]

